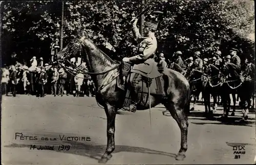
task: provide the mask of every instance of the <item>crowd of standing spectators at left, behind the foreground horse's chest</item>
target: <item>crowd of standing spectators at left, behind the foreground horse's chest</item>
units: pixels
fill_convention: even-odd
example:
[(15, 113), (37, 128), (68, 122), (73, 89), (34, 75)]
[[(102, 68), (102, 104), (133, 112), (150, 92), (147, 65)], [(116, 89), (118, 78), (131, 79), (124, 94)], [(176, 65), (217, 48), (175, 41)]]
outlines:
[[(15, 54), (12, 59), (15, 60)], [(63, 96), (74, 95), (75, 97), (95, 95), (95, 85), (89, 75), (76, 73), (77, 68), (66, 65), (65, 69), (59, 65), (44, 64), (44, 60), (33, 57), (29, 66), (25, 63), (13, 61), (12, 65), (4, 65), (1, 68), (2, 95), (12, 93), (35, 95), (45, 97), (46, 95)], [(84, 69), (84, 65), (77, 66)]]

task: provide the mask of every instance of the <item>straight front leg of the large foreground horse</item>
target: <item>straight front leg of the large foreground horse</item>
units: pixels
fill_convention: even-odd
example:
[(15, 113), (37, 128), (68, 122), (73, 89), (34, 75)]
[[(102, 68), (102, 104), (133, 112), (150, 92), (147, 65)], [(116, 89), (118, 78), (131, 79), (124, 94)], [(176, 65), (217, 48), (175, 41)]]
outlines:
[(115, 150), (115, 119), (116, 119), (116, 108), (112, 105), (107, 104), (105, 106), (105, 113), (108, 121), (106, 128), (106, 136), (108, 137), (108, 144), (106, 151), (102, 155), (99, 163), (106, 163), (111, 157), (111, 153)]

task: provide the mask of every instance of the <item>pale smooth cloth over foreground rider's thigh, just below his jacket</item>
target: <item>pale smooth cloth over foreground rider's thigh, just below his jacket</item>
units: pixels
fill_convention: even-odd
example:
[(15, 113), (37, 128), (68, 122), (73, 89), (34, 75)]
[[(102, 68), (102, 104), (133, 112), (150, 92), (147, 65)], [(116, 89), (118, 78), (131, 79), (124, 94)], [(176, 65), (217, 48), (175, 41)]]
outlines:
[(147, 59), (142, 64), (134, 65), (131, 68), (131, 72), (139, 73), (142, 76), (145, 76), (148, 78), (156, 78), (162, 75), (158, 71), (157, 63), (154, 61), (154, 59)]

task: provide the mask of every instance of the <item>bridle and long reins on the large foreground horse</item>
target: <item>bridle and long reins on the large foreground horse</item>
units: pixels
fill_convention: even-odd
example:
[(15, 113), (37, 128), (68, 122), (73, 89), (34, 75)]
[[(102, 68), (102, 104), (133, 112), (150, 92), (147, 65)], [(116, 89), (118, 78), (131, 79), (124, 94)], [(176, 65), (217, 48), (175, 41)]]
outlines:
[[(79, 51), (80, 51), (80, 53), (81, 53), (81, 45), (82, 45), (82, 43), (83, 43), (83, 40), (85, 39), (85, 37), (83, 36), (82, 38), (80, 38), (80, 39), (77, 39), (76, 38), (76, 40), (78, 41), (77, 43), (75, 43), (74, 44), (74, 46), (72, 47), (72, 49), (70, 50), (70, 51), (66, 51), (63, 55), (62, 55), (62, 57), (61, 57), (61, 59), (59, 59), (57, 62), (59, 63), (59, 65), (61, 65), (65, 70), (71, 70), (71, 71), (73, 71), (73, 72), (76, 72), (76, 73), (82, 73), (82, 74), (91, 74), (91, 75), (102, 75), (102, 74), (106, 74), (106, 73), (109, 73), (110, 71), (112, 71), (112, 70), (115, 70), (116, 68), (118, 68), (120, 65), (121, 65), (121, 63), (120, 64), (118, 64), (117, 66), (115, 66), (114, 68), (111, 68), (111, 69), (109, 69), (109, 70), (106, 70), (106, 71), (103, 71), (103, 72), (98, 72), (98, 73), (94, 73), (94, 72), (87, 72), (87, 71), (84, 71), (84, 70), (82, 70), (81, 68), (79, 68), (79, 67), (77, 67), (76, 65), (74, 65), (74, 64), (72, 64), (69, 60), (67, 60), (67, 58), (69, 57), (69, 56), (71, 56), (71, 54), (73, 53), (73, 52), (75, 52), (76, 50), (78, 50), (79, 49)], [(69, 43), (70, 44), (70, 43)], [(85, 51), (85, 53), (87, 53), (87, 51)], [(88, 55), (88, 54), (87, 54)], [(75, 68), (76, 70), (73, 70), (73, 69), (71, 69), (71, 68), (68, 68), (68, 67), (66, 67), (65, 65), (63, 65), (63, 62), (67, 62), (67, 63), (69, 63), (73, 68)], [(78, 72), (77, 70), (79, 70), (80, 72)], [(68, 71), (69, 72), (69, 71)], [(69, 72), (70, 73), (70, 72)]]

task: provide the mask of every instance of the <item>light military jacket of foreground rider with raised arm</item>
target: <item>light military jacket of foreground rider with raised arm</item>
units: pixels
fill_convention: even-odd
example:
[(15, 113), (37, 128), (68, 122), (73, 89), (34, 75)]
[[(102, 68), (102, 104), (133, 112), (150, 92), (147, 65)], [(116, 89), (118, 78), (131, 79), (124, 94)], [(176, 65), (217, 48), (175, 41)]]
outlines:
[(157, 40), (156, 37), (148, 36), (141, 37), (139, 29), (137, 27), (133, 28), (135, 35), (135, 40), (139, 43), (138, 55), (129, 58), (130, 62), (133, 64), (146, 63), (147, 59), (154, 58), (154, 52), (157, 49)]

